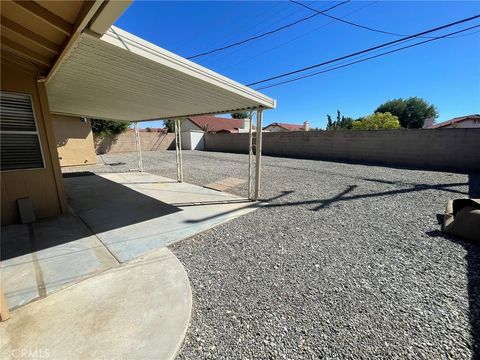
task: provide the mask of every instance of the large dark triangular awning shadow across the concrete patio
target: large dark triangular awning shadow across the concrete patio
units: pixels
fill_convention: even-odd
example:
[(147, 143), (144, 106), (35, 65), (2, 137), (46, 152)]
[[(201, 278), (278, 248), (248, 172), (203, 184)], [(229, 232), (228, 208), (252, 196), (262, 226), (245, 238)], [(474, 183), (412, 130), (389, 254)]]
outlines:
[[(8, 236), (2, 236), (1, 240), (2, 261), (66, 244), (95, 233), (122, 228), (182, 211), (176, 206), (91, 172), (64, 174), (64, 185), (68, 204), (76, 214), (76, 220), (73, 218), (62, 221), (55, 221), (57, 218), (42, 219), (34, 224), (29, 224), (28, 231), (25, 231), (25, 225), (21, 224), (9, 227), (6, 229)], [(81, 224), (74, 224), (71, 221)], [(49, 223), (51, 223), (50, 226)], [(36, 234), (32, 230), (37, 228), (37, 226), (32, 226), (35, 224), (39, 224), (45, 229), (51, 227), (51, 231)], [(91, 225), (95, 231), (90, 227)], [(41, 241), (37, 241), (37, 237), (40, 235)]]

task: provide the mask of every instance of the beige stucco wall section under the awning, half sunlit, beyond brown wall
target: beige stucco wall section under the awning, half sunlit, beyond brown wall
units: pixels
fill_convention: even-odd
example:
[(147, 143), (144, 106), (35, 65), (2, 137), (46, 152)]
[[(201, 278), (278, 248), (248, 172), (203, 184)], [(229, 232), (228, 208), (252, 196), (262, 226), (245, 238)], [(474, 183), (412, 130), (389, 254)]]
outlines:
[(89, 119), (52, 115), (60, 166), (92, 165), (97, 162)]

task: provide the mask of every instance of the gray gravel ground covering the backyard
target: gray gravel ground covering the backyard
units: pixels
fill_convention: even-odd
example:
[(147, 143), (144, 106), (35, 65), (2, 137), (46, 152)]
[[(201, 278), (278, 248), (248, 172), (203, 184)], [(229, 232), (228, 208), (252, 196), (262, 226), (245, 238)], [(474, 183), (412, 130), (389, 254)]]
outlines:
[[(245, 155), (184, 160), (191, 183), (246, 177)], [(125, 171), (135, 154), (103, 161), (125, 164), (91, 169)], [(174, 161), (144, 154), (167, 177)], [(437, 219), (478, 179), (264, 157), (269, 205), (171, 247), (194, 296), (179, 358), (480, 357), (480, 247), (444, 237)]]

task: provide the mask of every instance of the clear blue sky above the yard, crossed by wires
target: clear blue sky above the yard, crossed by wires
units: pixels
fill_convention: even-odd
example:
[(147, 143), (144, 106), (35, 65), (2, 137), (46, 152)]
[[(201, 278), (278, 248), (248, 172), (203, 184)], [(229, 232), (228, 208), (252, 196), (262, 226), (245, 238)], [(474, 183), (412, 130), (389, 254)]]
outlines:
[[(318, 10), (336, 3), (305, 2)], [(406, 35), (478, 13), (479, 1), (351, 1), (329, 12)], [(310, 14), (310, 10), (288, 1), (135, 1), (115, 25), (187, 57)], [(477, 19), (448, 32), (478, 24)], [(278, 102), (277, 109), (265, 112), (265, 122), (309, 121), (313, 127), (325, 127), (326, 115), (335, 115), (337, 109), (358, 117), (372, 113), (386, 100), (410, 96), (435, 104), (440, 114), (437, 121), (480, 113), (479, 30), (262, 90)], [(398, 37), (332, 22), (320, 15), (194, 61), (248, 84), (395, 39)]]

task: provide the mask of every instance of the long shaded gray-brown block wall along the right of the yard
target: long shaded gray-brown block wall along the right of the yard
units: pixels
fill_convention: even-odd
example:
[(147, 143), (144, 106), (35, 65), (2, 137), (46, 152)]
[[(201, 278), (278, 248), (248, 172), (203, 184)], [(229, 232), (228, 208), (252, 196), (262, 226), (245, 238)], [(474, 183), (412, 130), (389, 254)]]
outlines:
[[(248, 134), (205, 134), (205, 150), (247, 153)], [(264, 133), (263, 154), (480, 172), (480, 129)]]

